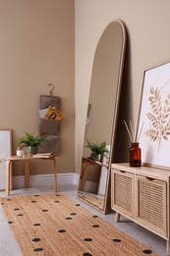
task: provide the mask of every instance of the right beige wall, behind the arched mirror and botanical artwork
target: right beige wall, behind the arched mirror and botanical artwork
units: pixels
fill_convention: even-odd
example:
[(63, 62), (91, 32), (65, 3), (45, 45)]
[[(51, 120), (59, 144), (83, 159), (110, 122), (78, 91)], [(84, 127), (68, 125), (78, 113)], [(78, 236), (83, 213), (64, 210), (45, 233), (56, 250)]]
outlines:
[(137, 124), (143, 70), (170, 59), (170, 1), (75, 0), (75, 5), (76, 171), (79, 172), (92, 59), (100, 34), (116, 19), (125, 23), (128, 32), (116, 142), (117, 160), (127, 160), (130, 145), (123, 120), (131, 118)]

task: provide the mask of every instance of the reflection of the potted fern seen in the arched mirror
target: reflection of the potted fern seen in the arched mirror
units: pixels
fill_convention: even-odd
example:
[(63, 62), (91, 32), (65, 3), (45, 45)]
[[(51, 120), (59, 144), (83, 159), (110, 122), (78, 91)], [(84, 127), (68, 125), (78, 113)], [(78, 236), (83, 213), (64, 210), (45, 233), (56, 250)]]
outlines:
[(91, 151), (90, 158), (93, 160), (101, 161), (102, 158), (109, 153), (109, 150), (107, 149), (107, 145), (105, 142), (102, 143), (92, 143), (86, 140), (87, 145), (85, 148), (89, 149)]

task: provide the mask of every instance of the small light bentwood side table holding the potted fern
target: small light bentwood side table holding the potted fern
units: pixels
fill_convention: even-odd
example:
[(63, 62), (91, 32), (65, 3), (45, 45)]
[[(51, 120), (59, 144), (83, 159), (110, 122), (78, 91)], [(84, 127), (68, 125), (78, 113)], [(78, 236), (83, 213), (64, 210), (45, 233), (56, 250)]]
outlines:
[(53, 161), (53, 171), (54, 171), (54, 189), (57, 191), (57, 164), (56, 164), (56, 157), (52, 156), (49, 158), (43, 157), (25, 157), (19, 158), (17, 156), (12, 156), (6, 159), (6, 195), (10, 196), (10, 187), (12, 184), (12, 162), (16, 160), (24, 160), (25, 161), (25, 187), (29, 187), (29, 162), (30, 160), (52, 160)]

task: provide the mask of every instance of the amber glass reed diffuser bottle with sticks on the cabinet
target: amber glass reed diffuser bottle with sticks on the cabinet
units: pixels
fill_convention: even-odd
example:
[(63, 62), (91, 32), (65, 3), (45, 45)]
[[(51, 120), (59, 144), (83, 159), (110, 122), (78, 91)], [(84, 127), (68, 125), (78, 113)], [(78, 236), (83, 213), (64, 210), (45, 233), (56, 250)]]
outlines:
[[(132, 122), (130, 121), (130, 127), (131, 130), (128, 128), (128, 125), (125, 122), (125, 126), (127, 128), (128, 134), (130, 136), (131, 139), (131, 148), (130, 148), (130, 166), (135, 166), (135, 167), (140, 167), (142, 165), (142, 150), (139, 147), (140, 143), (139, 143), (139, 139), (140, 139), (140, 135), (139, 138), (136, 138), (135, 132), (134, 132), (134, 128), (132, 125)], [(143, 124), (142, 124), (143, 125)]]

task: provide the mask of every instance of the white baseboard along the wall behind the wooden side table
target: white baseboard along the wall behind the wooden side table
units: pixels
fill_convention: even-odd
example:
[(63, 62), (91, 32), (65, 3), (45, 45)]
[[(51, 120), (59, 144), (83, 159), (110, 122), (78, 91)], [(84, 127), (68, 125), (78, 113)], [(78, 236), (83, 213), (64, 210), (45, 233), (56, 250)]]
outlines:
[[(57, 185), (78, 185), (79, 174), (78, 173), (58, 173)], [(54, 185), (54, 174), (38, 174), (29, 176), (29, 186), (50, 186)], [(13, 187), (22, 188), (25, 187), (25, 176), (14, 176)]]

